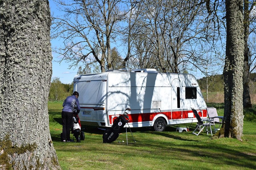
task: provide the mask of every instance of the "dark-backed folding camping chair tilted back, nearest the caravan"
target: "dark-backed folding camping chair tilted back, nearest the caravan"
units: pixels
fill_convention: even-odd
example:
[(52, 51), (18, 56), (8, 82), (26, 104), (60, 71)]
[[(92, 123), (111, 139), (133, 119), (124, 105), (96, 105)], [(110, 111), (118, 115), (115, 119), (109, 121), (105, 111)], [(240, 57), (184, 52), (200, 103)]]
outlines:
[[(192, 109), (192, 111), (193, 111), (193, 113), (194, 113), (194, 115), (195, 115), (195, 117), (197, 118), (197, 121), (198, 121), (198, 123), (197, 123), (197, 128), (193, 131), (192, 134), (195, 134), (195, 135), (198, 136), (199, 133), (206, 127), (207, 135), (208, 135), (208, 132), (211, 132), (211, 135), (212, 135), (211, 125), (213, 125), (213, 124), (211, 124), (210, 122), (213, 121), (213, 119), (202, 119), (202, 118), (199, 116), (198, 112), (197, 112), (194, 108), (191, 108), (191, 109)], [(205, 122), (205, 123), (204, 123), (204, 122)], [(201, 126), (203, 126), (203, 128), (201, 128)], [(201, 130), (200, 130), (198, 133), (195, 133), (195, 131), (196, 131), (199, 127), (201, 128)], [(208, 131), (208, 127), (210, 127), (210, 131)]]

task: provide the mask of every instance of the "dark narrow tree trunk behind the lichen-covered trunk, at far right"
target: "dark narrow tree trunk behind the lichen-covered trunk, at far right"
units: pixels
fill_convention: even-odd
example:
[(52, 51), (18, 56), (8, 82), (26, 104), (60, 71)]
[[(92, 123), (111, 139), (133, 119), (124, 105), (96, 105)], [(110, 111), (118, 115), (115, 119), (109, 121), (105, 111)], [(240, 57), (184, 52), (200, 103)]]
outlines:
[(243, 60), (243, 107), (251, 108), (251, 96), (250, 96), (250, 87), (249, 87), (249, 46), (248, 46), (248, 37), (249, 37), (249, 1), (244, 0), (244, 60)]

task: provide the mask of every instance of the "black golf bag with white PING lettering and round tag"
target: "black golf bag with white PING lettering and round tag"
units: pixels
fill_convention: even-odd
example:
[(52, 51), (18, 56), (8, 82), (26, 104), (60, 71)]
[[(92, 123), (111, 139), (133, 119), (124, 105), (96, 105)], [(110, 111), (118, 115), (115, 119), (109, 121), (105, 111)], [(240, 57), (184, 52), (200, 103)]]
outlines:
[(119, 114), (119, 116), (115, 118), (111, 128), (106, 129), (102, 137), (103, 143), (111, 143), (118, 138), (125, 124), (129, 122), (129, 116), (126, 114)]

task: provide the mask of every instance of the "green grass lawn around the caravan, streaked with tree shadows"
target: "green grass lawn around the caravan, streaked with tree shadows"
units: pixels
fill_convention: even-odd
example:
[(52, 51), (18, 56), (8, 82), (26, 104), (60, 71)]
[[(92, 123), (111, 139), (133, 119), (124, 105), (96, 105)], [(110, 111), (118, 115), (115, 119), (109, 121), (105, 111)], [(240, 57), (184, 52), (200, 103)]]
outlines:
[[(223, 103), (207, 105), (216, 107), (219, 116), (223, 116)], [(51, 137), (63, 170), (256, 169), (255, 108), (244, 110), (244, 142), (212, 140), (205, 132), (192, 135), (195, 124), (182, 124), (167, 127), (164, 132), (131, 128), (136, 144), (128, 133), (128, 146), (125, 128), (112, 143), (103, 143), (104, 131), (93, 127), (83, 129), (84, 141), (60, 142), (61, 109), (62, 102), (48, 102)], [(191, 126), (189, 132), (176, 132), (176, 127), (186, 126)]]

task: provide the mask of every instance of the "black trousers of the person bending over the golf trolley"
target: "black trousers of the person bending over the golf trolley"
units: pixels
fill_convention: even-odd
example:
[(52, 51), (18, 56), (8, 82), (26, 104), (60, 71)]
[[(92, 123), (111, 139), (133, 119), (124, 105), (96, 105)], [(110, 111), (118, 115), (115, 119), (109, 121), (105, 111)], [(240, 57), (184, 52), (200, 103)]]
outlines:
[(61, 141), (70, 141), (70, 128), (73, 120), (73, 112), (61, 112), (62, 118), (62, 138)]

